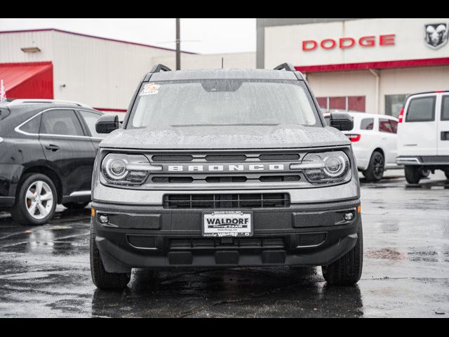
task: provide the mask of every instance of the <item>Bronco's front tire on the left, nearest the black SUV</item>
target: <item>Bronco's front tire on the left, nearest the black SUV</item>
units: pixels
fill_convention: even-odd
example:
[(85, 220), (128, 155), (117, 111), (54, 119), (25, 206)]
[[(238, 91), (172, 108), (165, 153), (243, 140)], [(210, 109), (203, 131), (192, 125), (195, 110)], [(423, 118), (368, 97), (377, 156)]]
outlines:
[(107, 272), (100, 256), (97, 244), (95, 242), (95, 230), (91, 225), (91, 275), (92, 281), (99, 289), (121, 290), (126, 287), (130, 280), (130, 274), (121, 274), (118, 272)]

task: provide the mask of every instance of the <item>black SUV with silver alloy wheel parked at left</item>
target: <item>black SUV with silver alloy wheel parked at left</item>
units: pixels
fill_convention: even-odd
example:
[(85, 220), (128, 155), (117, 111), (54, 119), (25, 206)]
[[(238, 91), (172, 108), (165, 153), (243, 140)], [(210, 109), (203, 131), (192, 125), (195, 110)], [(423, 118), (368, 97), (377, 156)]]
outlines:
[(81, 209), (91, 201), (102, 112), (80, 103), (0, 103), (0, 209), (13, 220), (41, 225), (56, 204)]

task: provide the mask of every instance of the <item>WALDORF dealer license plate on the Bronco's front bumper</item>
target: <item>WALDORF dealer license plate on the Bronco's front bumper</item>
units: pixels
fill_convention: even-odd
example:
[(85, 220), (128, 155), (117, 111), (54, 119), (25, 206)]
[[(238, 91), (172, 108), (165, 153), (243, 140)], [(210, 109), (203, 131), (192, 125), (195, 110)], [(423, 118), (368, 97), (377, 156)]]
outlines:
[[(213, 223), (211, 219), (215, 219)], [(254, 234), (253, 211), (203, 211), (201, 234), (203, 237), (252, 237)]]

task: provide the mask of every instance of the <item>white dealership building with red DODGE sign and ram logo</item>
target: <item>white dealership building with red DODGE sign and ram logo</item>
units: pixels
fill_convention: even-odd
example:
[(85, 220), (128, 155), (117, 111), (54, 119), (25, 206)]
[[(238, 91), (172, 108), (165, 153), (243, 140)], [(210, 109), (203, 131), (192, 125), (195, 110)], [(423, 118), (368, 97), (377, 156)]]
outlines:
[(407, 95), (449, 89), (449, 18), (257, 19), (257, 67), (303, 72), (322, 110), (397, 116)]

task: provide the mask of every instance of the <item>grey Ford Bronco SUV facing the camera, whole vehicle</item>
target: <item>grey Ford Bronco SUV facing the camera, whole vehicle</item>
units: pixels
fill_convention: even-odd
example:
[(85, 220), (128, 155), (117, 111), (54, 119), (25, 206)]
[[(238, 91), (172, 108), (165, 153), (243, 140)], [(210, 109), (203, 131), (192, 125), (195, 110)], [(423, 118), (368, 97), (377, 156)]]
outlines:
[[(352, 128), (348, 114), (330, 124)], [(121, 289), (132, 268), (321, 265), (361, 277), (351, 142), (326, 126), (307, 81), (275, 70), (156, 65), (119, 127), (104, 116), (92, 185), (91, 272)]]

